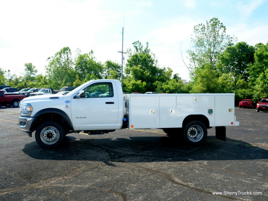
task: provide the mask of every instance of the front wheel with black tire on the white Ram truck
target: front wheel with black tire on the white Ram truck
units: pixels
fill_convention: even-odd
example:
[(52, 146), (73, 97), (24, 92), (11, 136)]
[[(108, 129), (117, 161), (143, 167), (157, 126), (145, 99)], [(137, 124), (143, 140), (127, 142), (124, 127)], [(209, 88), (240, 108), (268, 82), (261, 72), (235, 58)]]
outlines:
[(62, 125), (53, 121), (42, 123), (35, 131), (35, 140), (44, 149), (58, 147), (64, 137), (65, 132)]

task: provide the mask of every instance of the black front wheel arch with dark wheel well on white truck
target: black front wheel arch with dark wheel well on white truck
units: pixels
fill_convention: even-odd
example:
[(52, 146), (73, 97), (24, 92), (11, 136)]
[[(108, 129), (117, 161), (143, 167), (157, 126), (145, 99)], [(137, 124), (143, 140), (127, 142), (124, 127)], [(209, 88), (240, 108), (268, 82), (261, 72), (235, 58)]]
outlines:
[(68, 114), (57, 108), (46, 108), (38, 111), (33, 118), (30, 131), (35, 131), (38, 124), (44, 121), (55, 121), (59, 123), (66, 123), (64, 125), (66, 129), (73, 130), (73, 124)]

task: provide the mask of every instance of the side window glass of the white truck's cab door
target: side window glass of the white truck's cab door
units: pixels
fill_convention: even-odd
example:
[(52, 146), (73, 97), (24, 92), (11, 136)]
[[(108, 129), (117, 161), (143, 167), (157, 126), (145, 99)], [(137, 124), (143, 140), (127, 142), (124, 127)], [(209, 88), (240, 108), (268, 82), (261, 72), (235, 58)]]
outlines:
[(84, 88), (84, 92), (85, 98), (114, 97), (113, 84), (110, 82), (91, 84)]

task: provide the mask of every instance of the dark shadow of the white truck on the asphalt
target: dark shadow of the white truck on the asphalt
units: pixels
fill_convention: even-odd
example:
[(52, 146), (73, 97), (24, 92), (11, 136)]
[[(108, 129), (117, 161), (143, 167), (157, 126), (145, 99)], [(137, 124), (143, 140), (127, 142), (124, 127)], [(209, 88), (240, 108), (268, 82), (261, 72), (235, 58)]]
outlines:
[(267, 159), (268, 150), (249, 143), (227, 138), (226, 142), (208, 136), (201, 146), (188, 146), (163, 136), (127, 138), (80, 139), (66, 136), (65, 143), (53, 150), (44, 150), (36, 142), (26, 144), (23, 152), (35, 159), (155, 162), (155, 161), (210, 161)]

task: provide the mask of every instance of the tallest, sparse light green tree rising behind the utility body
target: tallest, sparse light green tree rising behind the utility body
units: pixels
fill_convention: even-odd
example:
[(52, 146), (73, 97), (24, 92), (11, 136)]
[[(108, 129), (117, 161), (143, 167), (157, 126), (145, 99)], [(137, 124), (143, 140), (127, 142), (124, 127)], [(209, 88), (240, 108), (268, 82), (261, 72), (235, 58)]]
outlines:
[(218, 55), (227, 46), (233, 45), (236, 39), (226, 35), (226, 27), (215, 17), (206, 21), (206, 24), (195, 25), (193, 33), (191, 37), (192, 48), (187, 50), (187, 53), (191, 62), (188, 69), (191, 76), (194, 77), (196, 69), (205, 64), (211, 65), (212, 69), (215, 70)]

